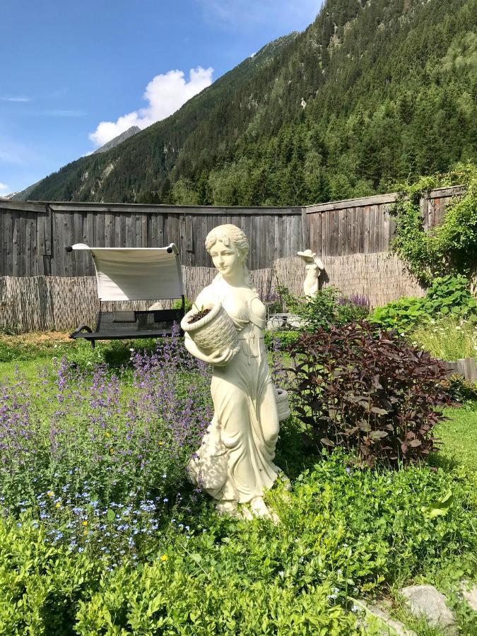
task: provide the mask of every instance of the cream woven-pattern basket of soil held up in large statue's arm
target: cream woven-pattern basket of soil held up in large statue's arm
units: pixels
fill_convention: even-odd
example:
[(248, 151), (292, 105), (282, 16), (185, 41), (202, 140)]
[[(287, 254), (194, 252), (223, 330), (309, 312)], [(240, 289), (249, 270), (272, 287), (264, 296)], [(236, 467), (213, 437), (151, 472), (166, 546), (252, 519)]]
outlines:
[(225, 348), (238, 348), (237, 330), (220, 302), (204, 318), (189, 324), (189, 318), (196, 313), (195, 309), (187, 312), (180, 326), (204, 353), (210, 355)]

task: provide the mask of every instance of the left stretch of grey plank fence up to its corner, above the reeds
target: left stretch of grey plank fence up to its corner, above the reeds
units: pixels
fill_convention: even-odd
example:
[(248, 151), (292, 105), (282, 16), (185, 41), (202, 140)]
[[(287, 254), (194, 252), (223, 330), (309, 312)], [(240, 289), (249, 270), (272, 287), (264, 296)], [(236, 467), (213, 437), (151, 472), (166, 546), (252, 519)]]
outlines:
[(239, 225), (250, 242), (249, 266), (302, 248), (302, 208), (189, 208), (123, 204), (0, 201), (0, 276), (93, 276), (89, 254), (65, 247), (163, 247), (175, 243), (182, 264), (210, 266), (206, 235)]

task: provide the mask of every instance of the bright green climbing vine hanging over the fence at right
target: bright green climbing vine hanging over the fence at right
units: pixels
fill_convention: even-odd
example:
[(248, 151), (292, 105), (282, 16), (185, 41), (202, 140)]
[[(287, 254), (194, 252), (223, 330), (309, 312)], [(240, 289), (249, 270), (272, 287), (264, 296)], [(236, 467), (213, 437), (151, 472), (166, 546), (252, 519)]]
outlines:
[[(454, 185), (463, 185), (466, 192), (454, 196), (442, 223), (425, 232), (420, 198), (432, 189)], [(477, 165), (459, 164), (444, 175), (400, 183), (397, 189), (396, 236), (391, 249), (423, 283), (449, 273), (469, 276), (477, 266)]]

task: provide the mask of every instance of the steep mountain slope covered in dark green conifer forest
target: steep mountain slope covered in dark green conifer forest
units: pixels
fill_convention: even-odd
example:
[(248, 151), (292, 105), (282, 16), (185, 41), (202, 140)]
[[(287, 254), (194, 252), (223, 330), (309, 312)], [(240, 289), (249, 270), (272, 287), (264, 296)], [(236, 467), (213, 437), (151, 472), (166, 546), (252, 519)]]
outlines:
[(477, 0), (327, 0), (303, 33), (30, 198), (300, 205), (477, 158)]

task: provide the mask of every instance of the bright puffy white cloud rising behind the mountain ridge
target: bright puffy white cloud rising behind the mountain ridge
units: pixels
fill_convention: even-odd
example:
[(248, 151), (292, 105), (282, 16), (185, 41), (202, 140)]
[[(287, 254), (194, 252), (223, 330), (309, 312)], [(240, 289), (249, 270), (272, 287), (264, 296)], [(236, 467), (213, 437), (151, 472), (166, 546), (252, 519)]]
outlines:
[(184, 71), (168, 71), (156, 75), (148, 83), (143, 94), (143, 99), (149, 102), (148, 106), (122, 115), (116, 122), (101, 122), (98, 128), (90, 133), (90, 140), (99, 148), (131, 126), (144, 129), (160, 119), (169, 117), (187, 100), (211, 85), (212, 73), (211, 67), (203, 69), (197, 66), (196, 69), (190, 69), (189, 81), (186, 81)]

